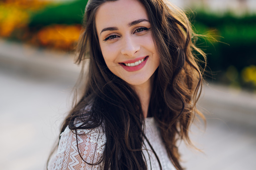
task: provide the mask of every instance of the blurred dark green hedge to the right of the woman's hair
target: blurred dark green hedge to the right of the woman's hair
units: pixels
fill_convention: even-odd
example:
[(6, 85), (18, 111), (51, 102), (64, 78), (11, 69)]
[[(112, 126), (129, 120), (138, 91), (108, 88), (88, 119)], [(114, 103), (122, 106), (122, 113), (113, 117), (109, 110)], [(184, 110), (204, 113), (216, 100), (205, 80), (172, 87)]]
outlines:
[(210, 34), (217, 40), (197, 41), (198, 47), (208, 54), (208, 71), (213, 73), (213, 81), (255, 90), (256, 80), (244, 81), (242, 71), (256, 66), (256, 15), (237, 17), (202, 11), (189, 15), (193, 16), (192, 24), (198, 34)]

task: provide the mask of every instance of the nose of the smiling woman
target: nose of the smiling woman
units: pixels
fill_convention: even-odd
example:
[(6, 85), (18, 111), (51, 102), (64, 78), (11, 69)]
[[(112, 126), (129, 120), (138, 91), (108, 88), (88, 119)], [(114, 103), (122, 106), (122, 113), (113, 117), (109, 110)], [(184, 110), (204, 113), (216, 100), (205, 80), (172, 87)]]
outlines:
[(140, 45), (132, 39), (132, 37), (127, 36), (124, 38), (123, 47), (121, 53), (123, 55), (128, 55), (133, 57), (137, 51), (140, 50)]

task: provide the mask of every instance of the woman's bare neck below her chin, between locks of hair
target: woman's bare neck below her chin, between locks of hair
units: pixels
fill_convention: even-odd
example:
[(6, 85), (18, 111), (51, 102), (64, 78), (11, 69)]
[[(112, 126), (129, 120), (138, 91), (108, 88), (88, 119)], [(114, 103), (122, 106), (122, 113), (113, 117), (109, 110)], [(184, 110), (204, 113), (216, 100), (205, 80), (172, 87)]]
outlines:
[(148, 113), (148, 105), (150, 101), (151, 90), (152, 90), (151, 78), (143, 84), (133, 85), (132, 88), (135, 90), (135, 92), (139, 96), (142, 112), (144, 117), (146, 118)]

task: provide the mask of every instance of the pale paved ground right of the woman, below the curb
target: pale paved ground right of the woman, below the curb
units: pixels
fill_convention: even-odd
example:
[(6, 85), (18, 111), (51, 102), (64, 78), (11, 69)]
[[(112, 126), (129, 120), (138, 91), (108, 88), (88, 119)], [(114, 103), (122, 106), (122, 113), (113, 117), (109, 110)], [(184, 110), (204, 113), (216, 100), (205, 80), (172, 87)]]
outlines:
[[(202, 128), (204, 129), (204, 128)], [(192, 128), (192, 140), (204, 153), (182, 145), (189, 170), (256, 169), (256, 130), (223, 119), (208, 118), (205, 131)]]

